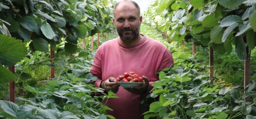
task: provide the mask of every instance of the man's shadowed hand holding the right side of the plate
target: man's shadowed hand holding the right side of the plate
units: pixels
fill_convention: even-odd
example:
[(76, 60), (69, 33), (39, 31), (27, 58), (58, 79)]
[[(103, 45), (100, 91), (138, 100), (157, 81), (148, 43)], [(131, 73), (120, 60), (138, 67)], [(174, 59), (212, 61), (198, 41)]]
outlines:
[(145, 76), (142, 76), (144, 83), (138, 86), (133, 86), (131, 88), (124, 88), (127, 91), (135, 94), (144, 94), (148, 90), (149, 87), (149, 79)]

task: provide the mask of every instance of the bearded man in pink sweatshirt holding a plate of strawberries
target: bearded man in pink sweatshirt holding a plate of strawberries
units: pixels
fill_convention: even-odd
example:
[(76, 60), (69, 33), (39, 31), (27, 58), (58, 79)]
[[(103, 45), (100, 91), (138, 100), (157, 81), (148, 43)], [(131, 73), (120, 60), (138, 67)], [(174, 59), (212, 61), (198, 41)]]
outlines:
[[(107, 111), (108, 115), (116, 119), (143, 119), (140, 112), (142, 95), (148, 94), (152, 83), (158, 80), (155, 71), (173, 65), (173, 58), (162, 43), (139, 34), (142, 16), (136, 2), (118, 2), (113, 22), (119, 37), (98, 48), (90, 72), (99, 78), (95, 87), (112, 91), (119, 97), (107, 100), (106, 106), (113, 109)], [(120, 87), (115, 78), (128, 71), (143, 76), (144, 83), (131, 88)]]

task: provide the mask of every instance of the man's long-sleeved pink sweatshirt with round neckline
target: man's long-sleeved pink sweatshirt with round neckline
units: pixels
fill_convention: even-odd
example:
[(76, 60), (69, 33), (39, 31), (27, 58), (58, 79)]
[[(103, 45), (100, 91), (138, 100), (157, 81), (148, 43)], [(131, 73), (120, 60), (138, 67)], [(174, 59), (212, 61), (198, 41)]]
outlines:
[[(144, 36), (135, 46), (125, 47), (118, 37), (103, 43), (98, 48), (90, 72), (99, 78), (95, 82), (95, 87), (100, 87), (102, 80), (109, 77), (117, 78), (124, 75), (124, 72), (133, 71), (141, 77), (143, 75), (148, 77), (149, 92), (153, 88), (153, 82), (158, 80), (155, 71), (173, 63), (170, 51), (159, 41)], [(107, 111), (108, 115), (116, 119), (143, 119), (140, 112), (141, 95), (119, 87), (116, 96), (119, 98), (110, 98), (106, 103), (106, 106), (113, 109)]]

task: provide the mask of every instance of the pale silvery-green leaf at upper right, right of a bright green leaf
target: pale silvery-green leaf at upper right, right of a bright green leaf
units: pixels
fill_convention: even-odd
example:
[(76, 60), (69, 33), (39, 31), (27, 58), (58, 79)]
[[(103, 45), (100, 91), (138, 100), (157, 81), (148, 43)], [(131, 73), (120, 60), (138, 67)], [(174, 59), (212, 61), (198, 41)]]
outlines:
[[(225, 0), (223, 0), (223, 1), (225, 1)], [(221, 20), (220, 27), (231, 26), (235, 23), (242, 23), (242, 18), (237, 15), (230, 15)]]

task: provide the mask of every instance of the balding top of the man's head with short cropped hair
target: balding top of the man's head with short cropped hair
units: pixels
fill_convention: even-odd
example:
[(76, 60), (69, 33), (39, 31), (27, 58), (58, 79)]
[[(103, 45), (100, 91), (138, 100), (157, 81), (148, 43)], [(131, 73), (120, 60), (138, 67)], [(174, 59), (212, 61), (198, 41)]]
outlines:
[(120, 1), (120, 2), (117, 2), (114, 6), (114, 18), (115, 18), (115, 10), (117, 7), (131, 7), (131, 5), (134, 5), (137, 10), (138, 10), (138, 17), (140, 17), (140, 6), (135, 2), (135, 1), (132, 1), (132, 0), (123, 0), (123, 1)]

